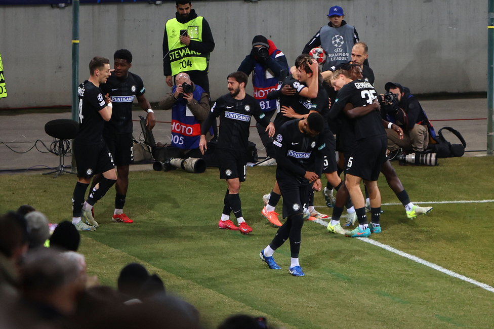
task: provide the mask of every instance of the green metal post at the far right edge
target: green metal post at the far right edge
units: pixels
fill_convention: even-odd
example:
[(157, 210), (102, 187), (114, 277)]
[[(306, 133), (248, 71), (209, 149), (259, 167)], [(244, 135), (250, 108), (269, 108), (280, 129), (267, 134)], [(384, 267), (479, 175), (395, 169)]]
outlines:
[(487, 9), (487, 155), (494, 155), (494, 0)]

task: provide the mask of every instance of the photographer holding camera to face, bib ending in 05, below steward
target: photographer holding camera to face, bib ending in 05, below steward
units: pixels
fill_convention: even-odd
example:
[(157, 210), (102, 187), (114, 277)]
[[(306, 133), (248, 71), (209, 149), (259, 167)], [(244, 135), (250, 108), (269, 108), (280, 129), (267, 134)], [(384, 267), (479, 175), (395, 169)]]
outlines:
[[(172, 92), (158, 103), (160, 109), (172, 109), (172, 146), (167, 147), (172, 157), (202, 157), (199, 140), (201, 124), (210, 113), (209, 101), (209, 95), (195, 85), (187, 73), (175, 76)], [(210, 129), (206, 139), (209, 141), (212, 137)]]

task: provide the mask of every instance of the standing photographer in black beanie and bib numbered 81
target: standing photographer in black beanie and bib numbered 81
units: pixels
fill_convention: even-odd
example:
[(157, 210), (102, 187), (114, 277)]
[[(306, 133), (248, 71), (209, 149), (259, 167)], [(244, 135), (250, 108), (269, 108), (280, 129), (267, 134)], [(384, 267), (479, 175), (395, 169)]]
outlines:
[[(271, 40), (263, 35), (256, 35), (252, 40), (251, 53), (245, 56), (238, 67), (238, 71), (247, 75), (252, 73), (252, 84), (254, 86), (254, 98), (258, 101), (268, 119), (271, 119), (279, 109), (277, 99), (267, 99), (269, 92), (278, 89), (280, 75), (283, 70), (290, 70), (286, 57), (282, 51), (276, 48)], [(284, 78), (284, 76), (282, 76)], [(265, 161), (261, 166), (274, 164), (273, 139), (268, 137), (265, 129), (256, 124), (259, 137), (266, 149), (266, 155), (272, 159)]]

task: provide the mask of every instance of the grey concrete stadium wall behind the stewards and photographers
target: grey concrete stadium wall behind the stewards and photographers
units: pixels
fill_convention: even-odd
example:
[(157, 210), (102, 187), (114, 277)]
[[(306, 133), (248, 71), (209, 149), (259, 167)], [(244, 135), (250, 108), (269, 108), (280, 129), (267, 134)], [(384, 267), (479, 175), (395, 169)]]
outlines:
[[(259, 0), (196, 1), (197, 13), (211, 25), (212, 98), (227, 92), (226, 75), (249, 54), (252, 38), (263, 34), (290, 64), (327, 23), (332, 5), (342, 6), (369, 46), (376, 89), (386, 81), (413, 93), (486, 91), (487, 2), (481, 0)], [(80, 80), (89, 77), (93, 56), (112, 58), (120, 48), (133, 55), (132, 71), (144, 80), (146, 97), (166, 92), (162, 71), (163, 29), (175, 3), (80, 6)], [(8, 97), (0, 108), (71, 104), (72, 8), (0, 7), (0, 54)]]

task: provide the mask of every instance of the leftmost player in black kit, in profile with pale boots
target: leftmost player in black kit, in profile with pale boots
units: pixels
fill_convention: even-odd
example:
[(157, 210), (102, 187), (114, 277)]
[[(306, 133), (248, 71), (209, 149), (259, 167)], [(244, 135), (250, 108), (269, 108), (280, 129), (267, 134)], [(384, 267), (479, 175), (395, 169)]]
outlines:
[[(73, 150), (77, 162), (77, 184), (72, 197), (72, 224), (79, 231), (93, 231), (98, 223), (91, 215), (93, 205), (101, 199), (116, 182), (116, 172), (111, 153), (103, 140), (104, 122), (112, 113), (109, 97), (100, 88), (110, 73), (110, 61), (95, 57), (89, 63), (91, 76), (79, 85), (79, 131), (74, 139)], [(94, 174), (103, 174), (99, 188), (93, 190), (86, 202), (84, 196)], [(81, 221), (81, 217), (87, 223)]]

